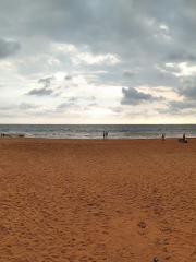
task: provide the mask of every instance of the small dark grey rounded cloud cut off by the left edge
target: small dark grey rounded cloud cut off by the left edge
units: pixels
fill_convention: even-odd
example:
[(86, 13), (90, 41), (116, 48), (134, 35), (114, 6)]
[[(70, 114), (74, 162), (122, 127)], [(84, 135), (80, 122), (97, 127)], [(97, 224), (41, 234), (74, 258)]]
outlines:
[(21, 48), (17, 41), (0, 39), (0, 59), (14, 55)]

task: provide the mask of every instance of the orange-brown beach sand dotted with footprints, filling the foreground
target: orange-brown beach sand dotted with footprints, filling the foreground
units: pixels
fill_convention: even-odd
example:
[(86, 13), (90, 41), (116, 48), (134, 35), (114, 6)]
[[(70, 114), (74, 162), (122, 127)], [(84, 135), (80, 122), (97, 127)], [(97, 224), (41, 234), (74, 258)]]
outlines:
[(196, 261), (196, 139), (0, 139), (0, 261)]

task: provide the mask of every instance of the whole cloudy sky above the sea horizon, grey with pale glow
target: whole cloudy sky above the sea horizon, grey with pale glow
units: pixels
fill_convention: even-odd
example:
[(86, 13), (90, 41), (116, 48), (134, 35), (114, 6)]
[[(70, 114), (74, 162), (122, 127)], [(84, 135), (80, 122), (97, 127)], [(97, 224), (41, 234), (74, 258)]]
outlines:
[(0, 0), (0, 123), (195, 122), (195, 0)]

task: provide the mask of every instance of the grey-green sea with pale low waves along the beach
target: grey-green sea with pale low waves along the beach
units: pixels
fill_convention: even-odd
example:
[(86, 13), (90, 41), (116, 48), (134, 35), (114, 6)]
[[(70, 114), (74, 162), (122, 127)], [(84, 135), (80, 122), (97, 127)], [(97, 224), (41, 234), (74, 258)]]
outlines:
[(12, 136), (24, 134), (25, 138), (50, 139), (102, 139), (108, 131), (108, 139), (156, 139), (196, 138), (196, 124), (0, 124), (0, 133)]

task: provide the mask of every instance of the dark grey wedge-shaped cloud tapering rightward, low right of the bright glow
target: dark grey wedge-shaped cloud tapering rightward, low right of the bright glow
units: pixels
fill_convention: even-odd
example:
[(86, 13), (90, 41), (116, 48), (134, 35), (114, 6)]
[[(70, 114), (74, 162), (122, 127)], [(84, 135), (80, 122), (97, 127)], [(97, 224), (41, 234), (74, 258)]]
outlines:
[(121, 100), (121, 105), (137, 106), (143, 103), (152, 103), (152, 102), (164, 100), (164, 97), (162, 97), (162, 96), (157, 97), (157, 96), (152, 96), (150, 94), (145, 94), (143, 92), (138, 92), (134, 87), (130, 87), (127, 90), (123, 87), (122, 93), (123, 93), (124, 97)]

